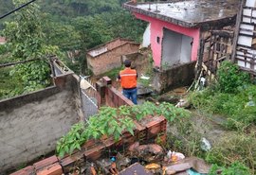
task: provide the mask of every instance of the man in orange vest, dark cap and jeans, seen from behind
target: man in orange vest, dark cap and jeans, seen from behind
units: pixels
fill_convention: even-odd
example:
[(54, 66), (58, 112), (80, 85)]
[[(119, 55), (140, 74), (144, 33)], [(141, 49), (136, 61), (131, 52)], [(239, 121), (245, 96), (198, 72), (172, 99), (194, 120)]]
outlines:
[(137, 71), (131, 68), (131, 61), (124, 61), (125, 68), (119, 72), (118, 79), (122, 94), (137, 104)]

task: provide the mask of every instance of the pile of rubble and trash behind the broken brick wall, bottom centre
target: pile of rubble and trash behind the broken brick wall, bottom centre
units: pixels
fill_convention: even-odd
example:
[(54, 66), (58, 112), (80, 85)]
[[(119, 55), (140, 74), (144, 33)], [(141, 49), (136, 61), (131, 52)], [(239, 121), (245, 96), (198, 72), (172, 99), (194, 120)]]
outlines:
[(210, 166), (199, 158), (185, 158), (180, 152), (165, 151), (156, 144), (136, 142), (126, 152), (100, 159), (88, 169), (84, 174), (203, 175), (209, 173)]

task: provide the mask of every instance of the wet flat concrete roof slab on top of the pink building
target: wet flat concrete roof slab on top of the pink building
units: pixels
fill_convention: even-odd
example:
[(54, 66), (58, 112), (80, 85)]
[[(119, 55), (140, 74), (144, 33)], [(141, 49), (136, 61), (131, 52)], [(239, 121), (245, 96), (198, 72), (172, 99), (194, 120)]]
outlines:
[(178, 26), (197, 27), (229, 23), (235, 19), (240, 3), (240, 0), (182, 0), (137, 4), (127, 2), (123, 7)]

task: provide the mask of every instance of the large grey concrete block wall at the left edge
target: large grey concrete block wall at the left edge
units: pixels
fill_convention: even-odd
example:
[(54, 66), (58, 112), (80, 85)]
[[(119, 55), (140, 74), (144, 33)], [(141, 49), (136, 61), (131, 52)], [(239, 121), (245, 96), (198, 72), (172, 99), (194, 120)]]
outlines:
[(55, 80), (58, 87), (0, 101), (0, 174), (53, 151), (82, 116), (77, 79)]

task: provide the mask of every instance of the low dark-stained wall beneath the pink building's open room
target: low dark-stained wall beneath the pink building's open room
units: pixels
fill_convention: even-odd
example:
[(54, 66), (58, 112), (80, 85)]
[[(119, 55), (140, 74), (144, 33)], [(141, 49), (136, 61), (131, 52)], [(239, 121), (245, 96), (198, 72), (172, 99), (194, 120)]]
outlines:
[(195, 61), (154, 71), (154, 90), (161, 94), (181, 86), (190, 86), (194, 79)]

